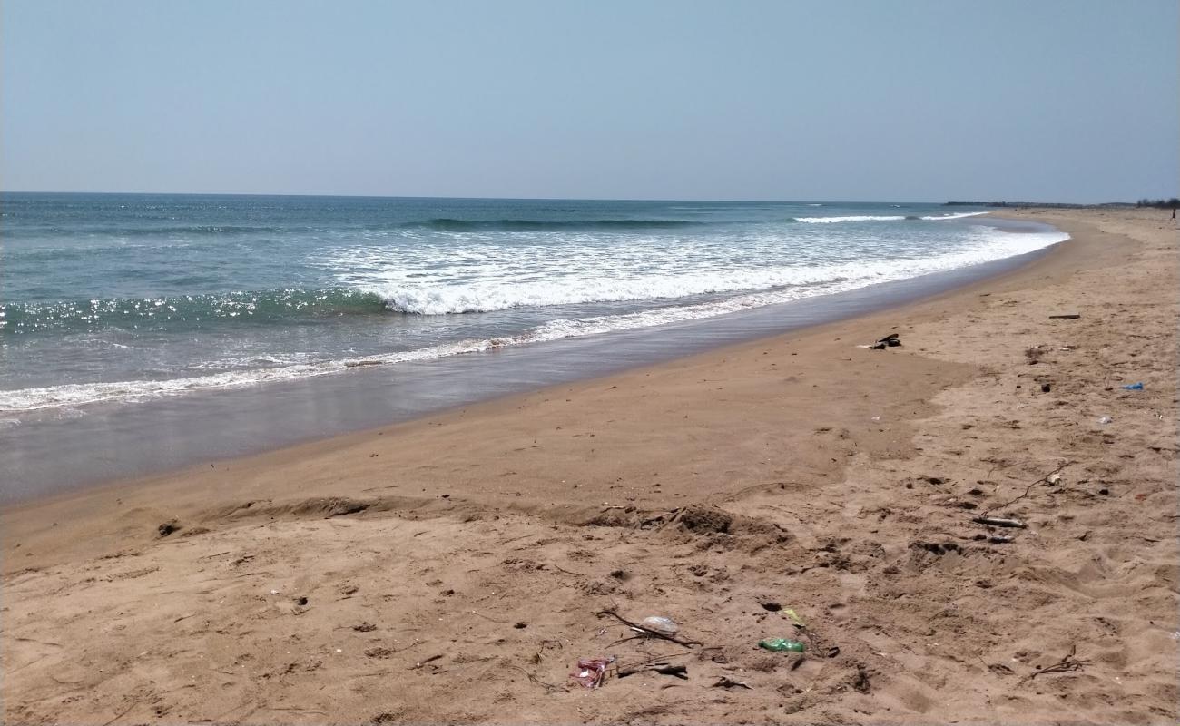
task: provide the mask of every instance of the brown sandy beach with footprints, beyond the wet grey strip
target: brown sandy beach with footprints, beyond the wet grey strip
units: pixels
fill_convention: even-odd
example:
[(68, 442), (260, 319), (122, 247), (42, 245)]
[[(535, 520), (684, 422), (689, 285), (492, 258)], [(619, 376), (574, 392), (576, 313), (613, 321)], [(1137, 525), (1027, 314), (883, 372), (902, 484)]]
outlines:
[[(1175, 722), (1175, 225), (1009, 214), (1074, 238), (871, 316), (4, 510), (4, 722)], [(601, 689), (569, 679), (607, 655)]]

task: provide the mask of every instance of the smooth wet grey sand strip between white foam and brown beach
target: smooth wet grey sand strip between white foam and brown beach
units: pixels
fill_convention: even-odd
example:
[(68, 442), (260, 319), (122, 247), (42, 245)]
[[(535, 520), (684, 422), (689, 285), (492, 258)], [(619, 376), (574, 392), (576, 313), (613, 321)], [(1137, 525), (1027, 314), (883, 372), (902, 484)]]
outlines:
[[(992, 218), (1010, 225), (1009, 231), (1054, 229)], [(166, 475), (198, 463), (257, 456), (730, 345), (798, 334), (953, 294), (1007, 275), (1050, 250), (678, 323), (242, 390), (99, 403), (86, 406), (77, 418), (34, 418), (6, 432), (9, 445), (0, 451), (0, 467), (19, 485), (0, 492), (0, 506)], [(65, 440), (71, 445), (63, 453)]]

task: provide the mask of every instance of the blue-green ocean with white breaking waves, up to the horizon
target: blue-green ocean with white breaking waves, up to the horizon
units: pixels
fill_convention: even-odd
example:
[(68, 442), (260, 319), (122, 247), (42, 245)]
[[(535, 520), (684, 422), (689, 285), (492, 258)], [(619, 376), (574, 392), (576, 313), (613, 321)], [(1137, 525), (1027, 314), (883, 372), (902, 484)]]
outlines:
[[(37, 463), (42, 442), (99, 431), (150, 442), (145, 432), (191, 407), (189, 400), (248, 392), (257, 406), (254, 420), (266, 420), (267, 401), (291, 390), (284, 384), (330, 380), (310, 390), (337, 397), (373, 369), (396, 380), (417, 371), (426, 377), (414, 395), (430, 398), (422, 387), (464, 384), (453, 375), (445, 384), (431, 379), (424, 364), (474, 357), (464, 368), (472, 371), (507, 351), (522, 361), (552, 344), (591, 339), (598, 358), (612, 358), (624, 341), (654, 340), (661, 329), (714, 319), (723, 326), (743, 313), (971, 270), (1067, 238), (1043, 225), (1005, 225), (983, 211), (826, 202), (6, 192), (5, 463), (31, 480), (61, 478)], [(485, 388), (467, 399), (497, 392)], [(466, 399), (438, 398), (455, 400)], [(349, 418), (337, 429), (380, 416)], [(127, 429), (131, 420), (138, 423)], [(277, 427), (294, 431), (293, 439), (334, 431), (302, 431), (287, 420)], [(268, 440), (286, 440), (276, 436)], [(106, 459), (136, 458), (123, 450), (124, 439), (107, 442), (116, 453)], [(198, 456), (190, 444), (164, 449), (171, 452), (166, 465)], [(236, 452), (214, 447), (199, 456)], [(110, 472), (124, 473), (119, 466)]]

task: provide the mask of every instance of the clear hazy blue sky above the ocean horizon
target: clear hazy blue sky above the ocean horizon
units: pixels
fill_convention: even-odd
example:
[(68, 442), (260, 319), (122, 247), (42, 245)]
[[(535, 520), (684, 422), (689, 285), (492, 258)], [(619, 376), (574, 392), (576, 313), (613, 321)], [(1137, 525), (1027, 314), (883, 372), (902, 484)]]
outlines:
[(1176, 194), (1176, 0), (4, 0), (0, 185)]

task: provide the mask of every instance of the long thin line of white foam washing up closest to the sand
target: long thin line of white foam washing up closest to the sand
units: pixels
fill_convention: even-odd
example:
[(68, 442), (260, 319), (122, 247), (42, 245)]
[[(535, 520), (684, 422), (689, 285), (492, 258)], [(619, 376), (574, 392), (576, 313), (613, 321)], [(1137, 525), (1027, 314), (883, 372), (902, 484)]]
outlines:
[[(801, 297), (824, 295), (916, 277), (935, 272), (958, 269), (971, 264), (990, 262), (1022, 255), (1068, 240), (1064, 233), (1011, 234), (994, 228), (979, 228), (971, 244), (944, 255), (912, 259), (893, 259), (874, 263), (844, 263), (817, 267), (800, 273), (795, 280), (822, 281), (813, 284), (793, 284), (763, 289), (727, 297), (725, 300), (663, 307), (617, 315), (597, 315), (575, 319), (557, 319), (537, 326), (519, 335), (485, 340), (466, 340), (430, 346), (414, 351), (401, 351), (367, 358), (348, 358), (312, 364), (294, 364), (280, 367), (229, 371), (211, 375), (197, 375), (172, 380), (131, 380), (93, 384), (67, 384), (39, 388), (0, 391), (0, 412), (19, 413), (42, 408), (72, 408), (100, 401), (137, 401), (166, 395), (179, 395), (196, 391), (254, 386), (264, 382), (297, 380), (353, 368), (394, 365), (399, 362), (432, 360), (465, 353), (479, 353), (506, 346), (596, 335), (614, 331), (653, 327), (688, 320), (700, 320), (746, 310), (768, 305), (789, 302)], [(787, 275), (788, 270), (774, 274)], [(801, 276), (800, 276), (801, 275)]]

